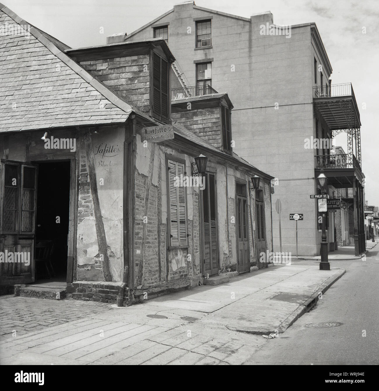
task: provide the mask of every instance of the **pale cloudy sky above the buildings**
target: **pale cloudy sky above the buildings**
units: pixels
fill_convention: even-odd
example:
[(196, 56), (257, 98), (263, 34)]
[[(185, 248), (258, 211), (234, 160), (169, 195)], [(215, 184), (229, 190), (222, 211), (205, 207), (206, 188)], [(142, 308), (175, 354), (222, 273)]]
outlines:
[[(71, 47), (106, 43), (173, 8), (176, 0), (1, 0), (27, 22)], [(250, 18), (271, 11), (274, 23), (315, 22), (331, 62), (332, 84), (352, 83), (361, 115), (365, 197), (379, 206), (379, 2), (377, 0), (196, 0), (196, 5)], [(365, 33), (363, 33), (365, 32)], [(336, 138), (345, 151), (346, 135)]]

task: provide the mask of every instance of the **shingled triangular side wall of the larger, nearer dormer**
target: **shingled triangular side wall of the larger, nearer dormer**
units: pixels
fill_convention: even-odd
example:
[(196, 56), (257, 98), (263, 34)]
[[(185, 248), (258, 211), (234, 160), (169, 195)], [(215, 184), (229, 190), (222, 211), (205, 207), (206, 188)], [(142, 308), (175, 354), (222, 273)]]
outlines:
[(126, 97), (141, 111), (150, 110), (150, 57), (148, 54), (81, 61), (80, 65), (97, 79)]

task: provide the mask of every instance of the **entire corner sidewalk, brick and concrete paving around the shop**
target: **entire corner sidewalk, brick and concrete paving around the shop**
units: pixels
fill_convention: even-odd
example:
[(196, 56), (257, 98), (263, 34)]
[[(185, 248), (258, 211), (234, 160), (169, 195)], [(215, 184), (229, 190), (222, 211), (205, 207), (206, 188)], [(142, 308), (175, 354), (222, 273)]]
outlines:
[[(131, 307), (7, 296), (1, 364), (242, 364), (267, 342), (262, 334), (284, 332), (343, 273), (275, 266)], [(22, 335), (41, 311), (55, 324), (59, 313), (65, 319)]]

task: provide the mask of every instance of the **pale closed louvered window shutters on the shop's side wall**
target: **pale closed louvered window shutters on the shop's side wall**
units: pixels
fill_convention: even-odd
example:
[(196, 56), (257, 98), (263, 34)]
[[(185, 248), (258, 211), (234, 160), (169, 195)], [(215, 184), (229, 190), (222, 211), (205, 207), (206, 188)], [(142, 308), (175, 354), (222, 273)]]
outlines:
[(167, 160), (169, 182), (170, 245), (187, 246), (187, 206), (185, 187), (180, 186), (185, 165), (179, 161)]

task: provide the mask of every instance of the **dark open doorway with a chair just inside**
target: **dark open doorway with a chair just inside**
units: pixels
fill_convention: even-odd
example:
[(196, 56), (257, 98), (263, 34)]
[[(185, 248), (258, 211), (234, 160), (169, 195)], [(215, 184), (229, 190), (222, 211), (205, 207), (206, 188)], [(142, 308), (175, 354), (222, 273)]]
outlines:
[[(70, 162), (38, 162), (36, 282), (66, 281)], [(38, 262), (40, 259), (40, 262)]]

